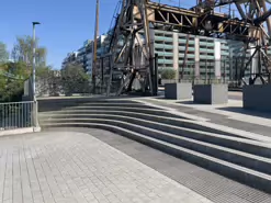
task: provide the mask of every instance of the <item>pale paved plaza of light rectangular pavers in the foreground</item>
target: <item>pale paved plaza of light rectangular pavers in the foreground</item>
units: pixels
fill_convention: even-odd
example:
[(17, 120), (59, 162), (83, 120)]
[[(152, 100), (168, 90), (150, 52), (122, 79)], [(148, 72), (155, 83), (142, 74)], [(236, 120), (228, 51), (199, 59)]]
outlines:
[(207, 203), (86, 133), (0, 137), (1, 203)]

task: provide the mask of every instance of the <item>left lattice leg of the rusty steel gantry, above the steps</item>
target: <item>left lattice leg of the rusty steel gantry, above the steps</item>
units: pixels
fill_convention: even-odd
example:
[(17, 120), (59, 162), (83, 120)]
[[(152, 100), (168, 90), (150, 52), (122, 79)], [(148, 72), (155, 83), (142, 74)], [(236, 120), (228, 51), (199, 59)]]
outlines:
[[(135, 76), (139, 72), (143, 78), (143, 91), (153, 89), (153, 44), (149, 35), (149, 20), (147, 16), (147, 0), (123, 0), (122, 11), (114, 29), (110, 52), (112, 67), (108, 94), (113, 86), (113, 75), (120, 72), (121, 86), (116, 94), (129, 91)], [(140, 35), (138, 34), (140, 32)], [(135, 49), (144, 53), (144, 63), (138, 65)]]

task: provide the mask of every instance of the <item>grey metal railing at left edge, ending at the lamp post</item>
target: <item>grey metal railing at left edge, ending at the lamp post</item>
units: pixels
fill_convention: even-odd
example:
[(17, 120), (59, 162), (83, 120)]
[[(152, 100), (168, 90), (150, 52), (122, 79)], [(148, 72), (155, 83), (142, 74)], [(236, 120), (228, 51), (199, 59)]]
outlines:
[(34, 127), (35, 115), (33, 101), (0, 103), (0, 131)]

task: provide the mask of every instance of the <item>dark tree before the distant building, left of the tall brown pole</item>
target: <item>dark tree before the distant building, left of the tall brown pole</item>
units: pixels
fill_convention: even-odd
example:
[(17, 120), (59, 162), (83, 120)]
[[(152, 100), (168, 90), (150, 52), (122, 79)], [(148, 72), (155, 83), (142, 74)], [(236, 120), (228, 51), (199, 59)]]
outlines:
[(61, 87), (66, 95), (89, 92), (89, 75), (80, 65), (68, 65), (61, 70)]

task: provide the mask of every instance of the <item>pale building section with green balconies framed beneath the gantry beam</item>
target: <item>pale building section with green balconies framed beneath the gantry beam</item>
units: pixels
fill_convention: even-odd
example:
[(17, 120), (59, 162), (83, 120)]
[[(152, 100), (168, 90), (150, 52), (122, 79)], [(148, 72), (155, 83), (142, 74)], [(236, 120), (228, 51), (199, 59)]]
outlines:
[(160, 30), (154, 31), (153, 40), (158, 68), (179, 69), (180, 76), (183, 75), (185, 79), (228, 78), (230, 68), (234, 68), (230, 58), (244, 47), (237, 41)]

